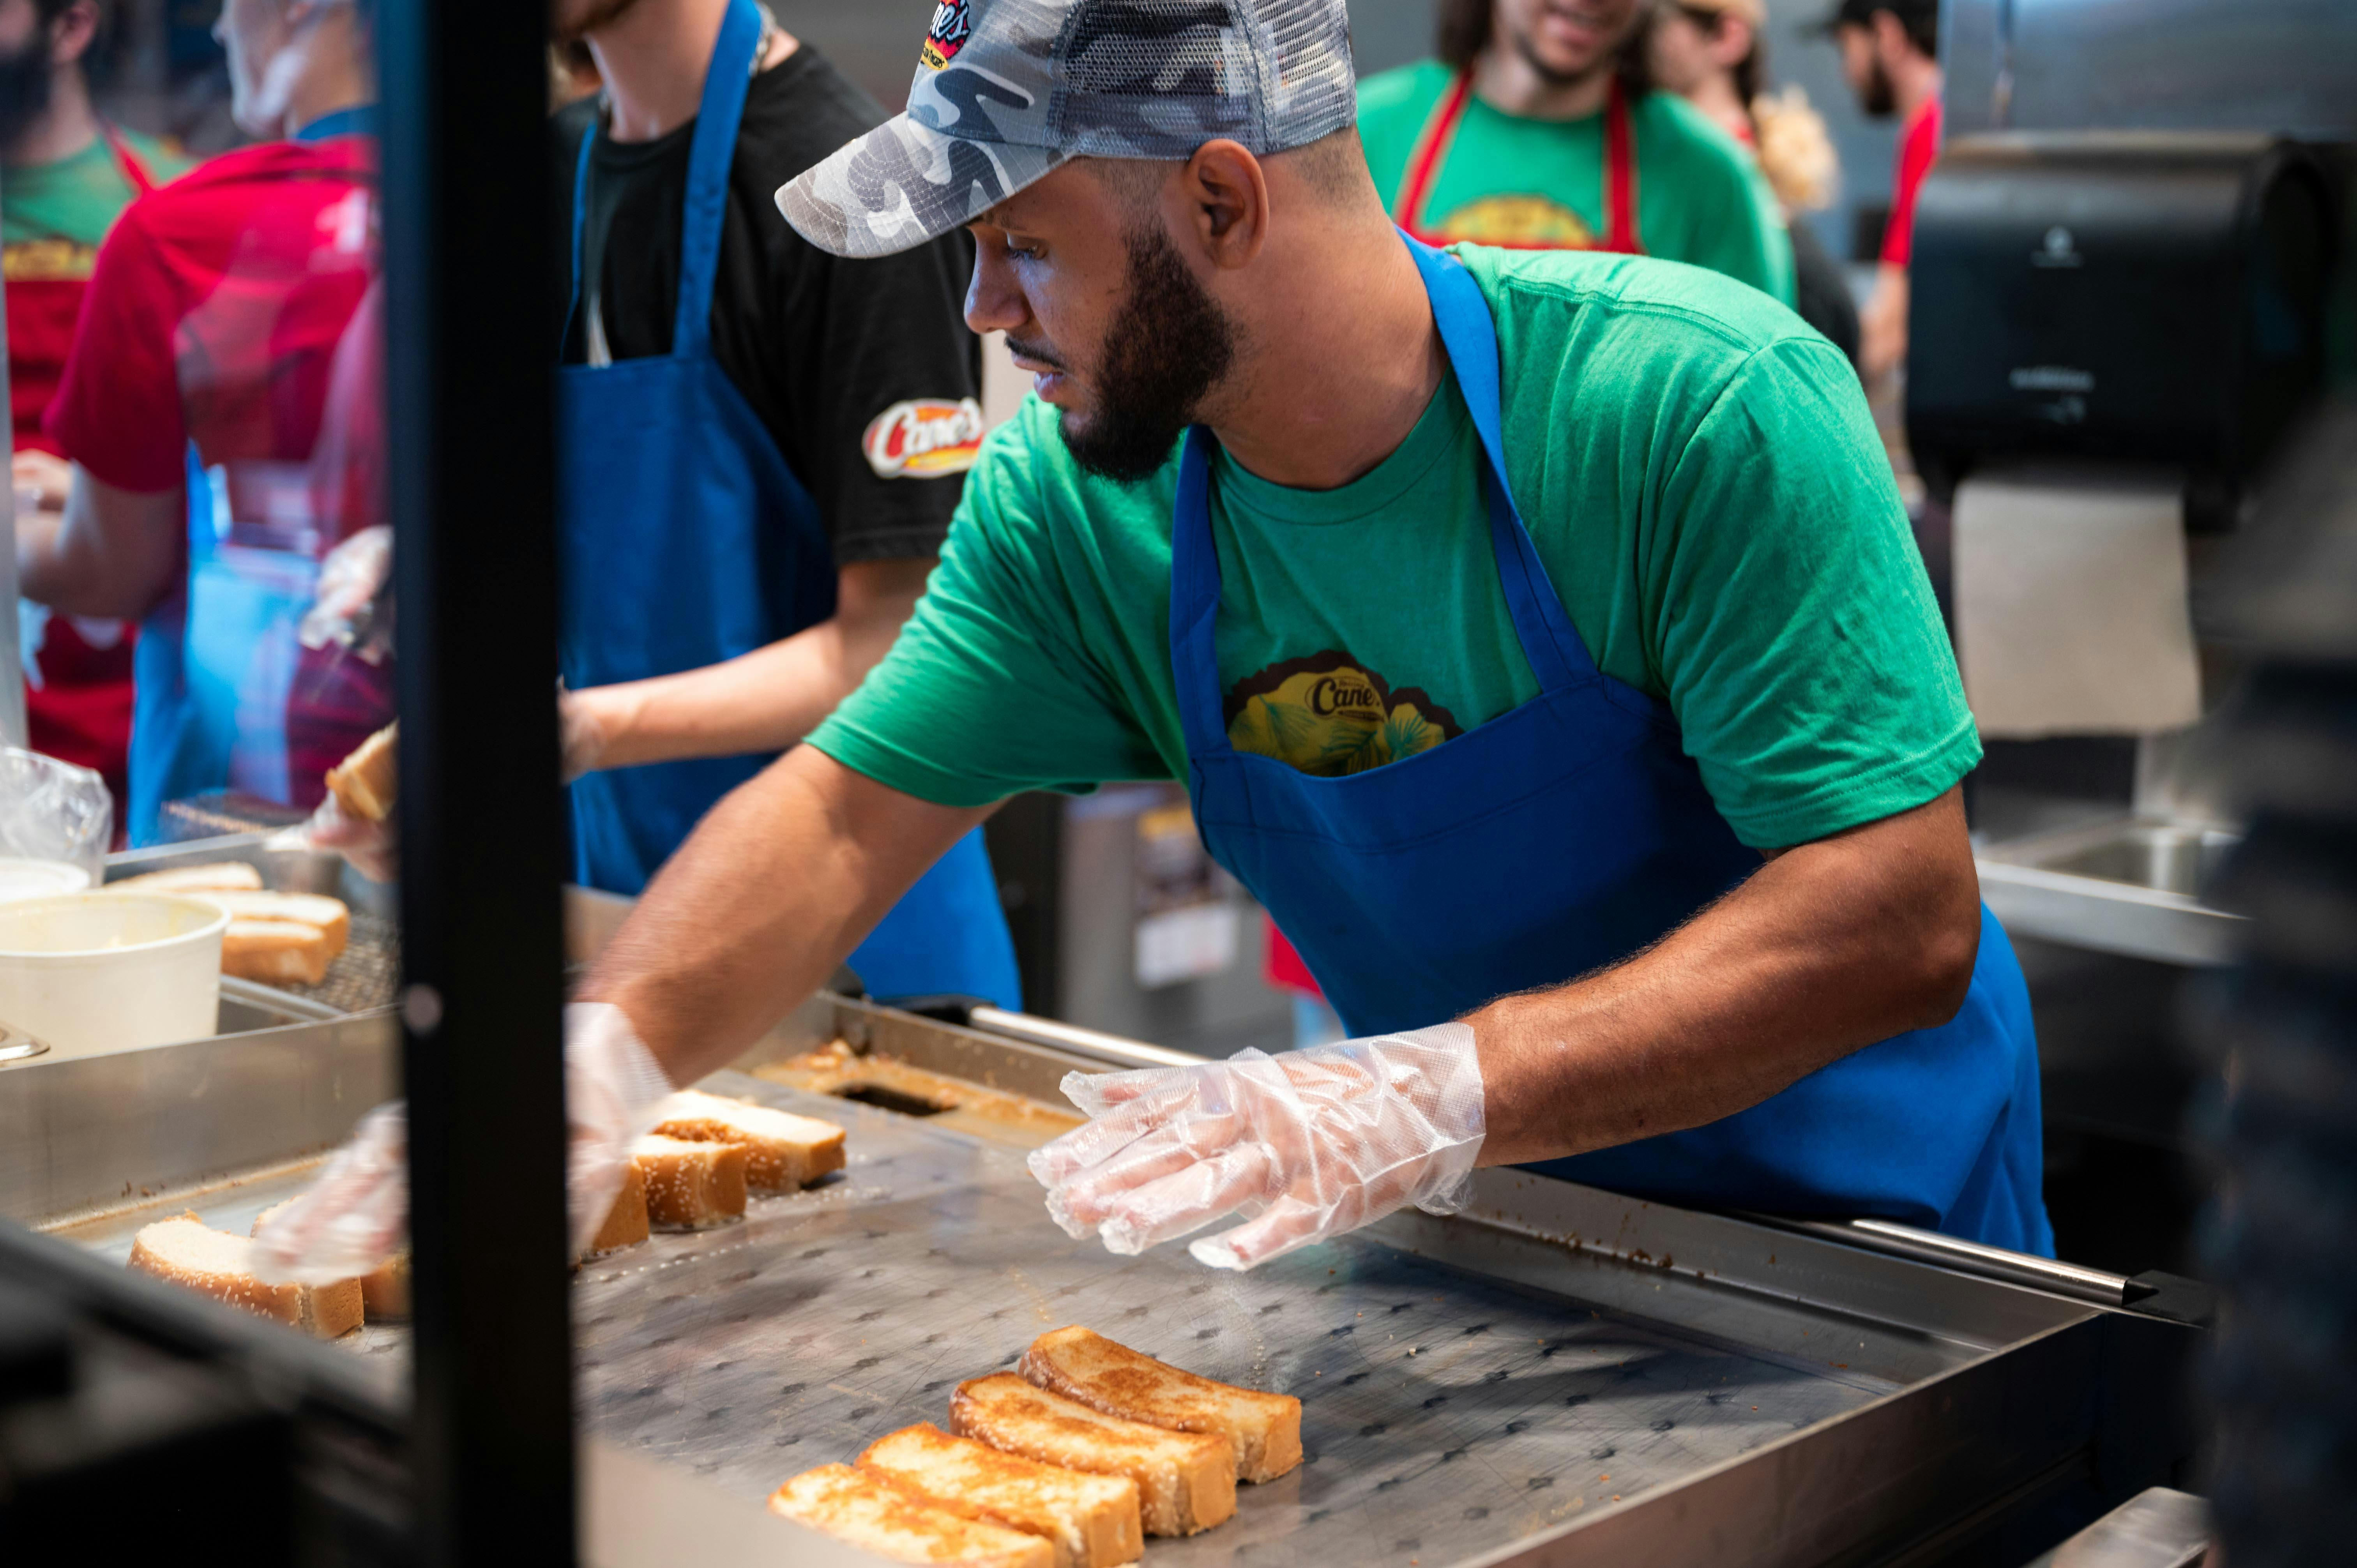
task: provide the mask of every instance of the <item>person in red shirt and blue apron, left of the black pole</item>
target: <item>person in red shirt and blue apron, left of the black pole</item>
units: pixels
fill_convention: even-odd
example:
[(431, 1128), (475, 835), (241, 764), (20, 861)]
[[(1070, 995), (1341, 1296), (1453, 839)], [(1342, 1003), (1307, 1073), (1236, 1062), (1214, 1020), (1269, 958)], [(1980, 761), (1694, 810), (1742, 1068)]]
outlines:
[(28, 599), (141, 618), (134, 844), (212, 790), (306, 811), (391, 717), (387, 670), (297, 639), (323, 556), (377, 521), (323, 502), (346, 486), (316, 472), (375, 274), (368, 17), (229, 0), (217, 35), (238, 127), (264, 141), (141, 196), (106, 236), (47, 413), (73, 460), (64, 512), (16, 535)]

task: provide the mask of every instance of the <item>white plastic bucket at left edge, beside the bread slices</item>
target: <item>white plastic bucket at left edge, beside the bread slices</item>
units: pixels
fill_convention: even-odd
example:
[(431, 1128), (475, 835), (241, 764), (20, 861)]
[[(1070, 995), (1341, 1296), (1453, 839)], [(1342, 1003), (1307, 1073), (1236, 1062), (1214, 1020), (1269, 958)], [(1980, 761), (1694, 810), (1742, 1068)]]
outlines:
[(217, 903), (174, 894), (0, 903), (0, 1019), (47, 1040), (42, 1061), (203, 1040), (226, 927)]

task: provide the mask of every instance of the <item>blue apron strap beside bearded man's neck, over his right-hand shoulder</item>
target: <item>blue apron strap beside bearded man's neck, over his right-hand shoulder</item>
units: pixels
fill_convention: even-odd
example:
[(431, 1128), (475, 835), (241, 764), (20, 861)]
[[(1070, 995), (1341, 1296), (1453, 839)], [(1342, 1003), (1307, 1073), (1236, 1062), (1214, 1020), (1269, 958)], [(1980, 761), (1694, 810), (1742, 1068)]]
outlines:
[(1523, 526), (1523, 514), (1513, 505), (1513, 488), (1506, 483), (1506, 439), (1499, 417), (1499, 363), (1497, 323), (1490, 321), (1490, 302), (1464, 264), (1431, 245), (1400, 231), (1400, 243), (1424, 274), (1424, 292), (1433, 302), (1433, 323), (1440, 328), (1440, 344), (1457, 370), (1457, 389), (1473, 415), (1483, 453), (1490, 457), (1485, 490), (1490, 500), (1490, 549), (1497, 554), (1499, 585), (1506, 589), (1506, 611), (1513, 615), (1516, 639), (1523, 658), (1539, 679), (1541, 691), (1563, 691), (1596, 679), (1596, 660), (1572, 627), (1556, 585), (1546, 580), (1546, 564), (1539, 547)]

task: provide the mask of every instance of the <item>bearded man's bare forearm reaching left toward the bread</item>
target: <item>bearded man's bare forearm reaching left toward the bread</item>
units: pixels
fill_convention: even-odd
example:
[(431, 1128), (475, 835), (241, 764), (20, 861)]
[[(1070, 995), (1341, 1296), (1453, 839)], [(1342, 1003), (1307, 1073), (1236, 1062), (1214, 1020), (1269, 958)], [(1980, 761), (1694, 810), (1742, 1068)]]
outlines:
[(695, 1082), (816, 993), (985, 816), (797, 747), (695, 828), (580, 1000), (620, 1007), (672, 1082)]

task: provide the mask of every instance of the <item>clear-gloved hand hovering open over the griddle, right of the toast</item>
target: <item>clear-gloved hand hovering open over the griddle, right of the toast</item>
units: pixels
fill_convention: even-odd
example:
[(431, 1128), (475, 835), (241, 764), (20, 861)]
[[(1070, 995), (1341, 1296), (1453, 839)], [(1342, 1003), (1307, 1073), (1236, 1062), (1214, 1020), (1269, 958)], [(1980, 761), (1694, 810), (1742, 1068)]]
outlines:
[(1056, 1224), (1136, 1254), (1242, 1210), (1247, 1224), (1188, 1245), (1211, 1269), (1252, 1269), (1409, 1203), (1454, 1214), (1483, 1141), (1480, 1059), (1464, 1023), (1070, 1073), (1063, 1092), (1091, 1120), (1030, 1155)]

